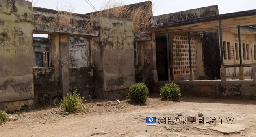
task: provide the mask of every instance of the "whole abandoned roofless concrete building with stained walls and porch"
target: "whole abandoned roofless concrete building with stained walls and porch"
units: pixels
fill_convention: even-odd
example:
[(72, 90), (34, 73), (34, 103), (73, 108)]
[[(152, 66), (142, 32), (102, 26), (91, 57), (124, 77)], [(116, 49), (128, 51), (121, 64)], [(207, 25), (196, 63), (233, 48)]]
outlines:
[(256, 97), (256, 10), (219, 14), (215, 5), (153, 16), (150, 1), (127, 6), (148, 5), (148, 30), (137, 32), (127, 18), (91, 23), (95, 13), (0, 0), (0, 109), (51, 104), (75, 89), (123, 99), (137, 82), (151, 92), (174, 81), (184, 95)]

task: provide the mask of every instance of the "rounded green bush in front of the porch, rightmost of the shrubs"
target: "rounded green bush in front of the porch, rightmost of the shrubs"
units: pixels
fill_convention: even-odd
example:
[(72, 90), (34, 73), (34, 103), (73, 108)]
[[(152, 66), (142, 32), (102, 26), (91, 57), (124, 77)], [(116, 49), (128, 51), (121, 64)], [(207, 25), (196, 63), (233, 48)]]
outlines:
[(181, 96), (180, 87), (175, 83), (167, 83), (161, 88), (160, 95), (162, 98), (171, 98), (174, 101), (178, 101)]

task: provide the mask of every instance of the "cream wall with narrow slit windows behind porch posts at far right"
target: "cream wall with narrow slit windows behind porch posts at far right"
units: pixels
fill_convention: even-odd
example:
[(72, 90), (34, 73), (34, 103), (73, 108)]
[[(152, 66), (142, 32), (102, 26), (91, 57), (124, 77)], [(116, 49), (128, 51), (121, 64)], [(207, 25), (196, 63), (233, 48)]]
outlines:
[[(239, 47), (237, 47), (237, 57), (238, 59), (236, 59), (236, 48), (235, 48), (235, 43), (238, 45), (238, 35), (237, 34), (233, 34), (231, 32), (228, 31), (223, 31), (223, 42), (230, 42), (230, 48), (228, 49), (227, 44), (223, 45), (226, 46), (225, 47), (225, 54), (227, 56), (227, 58), (224, 58), (224, 64), (240, 64), (240, 58), (239, 58)], [(247, 56), (244, 58), (244, 54), (243, 54), (243, 44), (245, 44), (245, 46), (248, 44), (249, 45), (249, 51), (247, 52), (247, 48), (245, 47), (245, 54), (247, 55), (247, 53), (249, 53), (249, 58), (247, 58)], [(254, 45), (256, 45), (256, 38), (255, 35), (241, 35), (241, 51), (242, 51), (242, 61), (243, 64), (253, 64), (254, 62), (256, 62), (256, 60), (254, 59)], [(228, 53), (228, 51), (230, 51), (230, 53)], [(228, 54), (230, 54), (230, 58), (228, 58)], [(226, 76), (230, 77), (232, 79), (238, 79), (239, 77), (239, 68), (226, 68)], [(247, 79), (251, 79), (252, 76), (252, 67), (245, 67), (245, 76), (247, 76)]]

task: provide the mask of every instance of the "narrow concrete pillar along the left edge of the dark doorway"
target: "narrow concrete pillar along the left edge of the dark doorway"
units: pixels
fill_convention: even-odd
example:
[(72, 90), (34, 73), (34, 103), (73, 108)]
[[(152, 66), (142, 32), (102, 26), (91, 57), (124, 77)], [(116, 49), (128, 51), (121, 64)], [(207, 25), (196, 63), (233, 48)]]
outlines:
[(158, 82), (157, 69), (156, 69), (156, 33), (152, 32), (152, 54), (153, 54), (153, 65), (154, 65), (154, 80)]

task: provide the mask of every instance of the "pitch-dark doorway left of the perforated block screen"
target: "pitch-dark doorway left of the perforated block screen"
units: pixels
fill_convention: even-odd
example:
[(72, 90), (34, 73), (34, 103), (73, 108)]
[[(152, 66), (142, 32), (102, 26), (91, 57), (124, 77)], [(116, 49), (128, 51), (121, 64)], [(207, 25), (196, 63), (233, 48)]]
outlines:
[(168, 81), (166, 37), (156, 38), (156, 68), (158, 81)]

